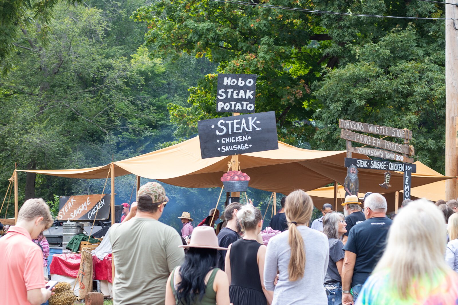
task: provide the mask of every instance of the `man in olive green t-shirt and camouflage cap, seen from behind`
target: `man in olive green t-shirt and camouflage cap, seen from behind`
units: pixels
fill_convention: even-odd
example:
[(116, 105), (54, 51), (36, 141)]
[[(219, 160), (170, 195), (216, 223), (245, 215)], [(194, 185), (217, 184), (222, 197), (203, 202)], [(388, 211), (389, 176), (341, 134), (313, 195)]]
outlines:
[(124, 221), (109, 231), (114, 305), (163, 305), (167, 278), (183, 262), (185, 252), (178, 247), (178, 232), (158, 220), (169, 201), (164, 187), (148, 182), (137, 198)]

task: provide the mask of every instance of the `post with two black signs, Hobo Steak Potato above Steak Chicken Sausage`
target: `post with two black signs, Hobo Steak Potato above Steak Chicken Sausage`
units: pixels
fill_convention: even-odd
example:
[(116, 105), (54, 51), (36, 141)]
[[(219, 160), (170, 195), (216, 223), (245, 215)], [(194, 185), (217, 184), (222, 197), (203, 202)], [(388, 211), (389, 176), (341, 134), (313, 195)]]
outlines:
[[(216, 111), (233, 113), (197, 122), (202, 159), (232, 155), (229, 170), (238, 171), (239, 154), (278, 149), (275, 112), (254, 113), (256, 78), (255, 74), (218, 74)], [(240, 197), (240, 192), (230, 197)]]

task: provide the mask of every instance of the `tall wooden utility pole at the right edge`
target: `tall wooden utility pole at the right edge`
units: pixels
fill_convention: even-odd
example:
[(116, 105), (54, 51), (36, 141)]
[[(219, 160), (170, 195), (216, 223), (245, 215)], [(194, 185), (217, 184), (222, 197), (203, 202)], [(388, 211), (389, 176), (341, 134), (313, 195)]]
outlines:
[[(458, 16), (445, 5), (445, 175), (458, 176)], [(453, 19), (453, 20), (450, 20)], [(445, 181), (446, 200), (458, 198), (457, 179)]]

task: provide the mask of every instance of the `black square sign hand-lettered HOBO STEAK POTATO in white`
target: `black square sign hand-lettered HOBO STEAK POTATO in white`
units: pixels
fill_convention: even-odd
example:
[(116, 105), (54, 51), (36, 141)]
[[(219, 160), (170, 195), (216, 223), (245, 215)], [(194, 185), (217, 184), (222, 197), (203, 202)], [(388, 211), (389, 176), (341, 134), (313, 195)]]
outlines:
[(218, 74), (217, 112), (255, 112), (256, 74)]

